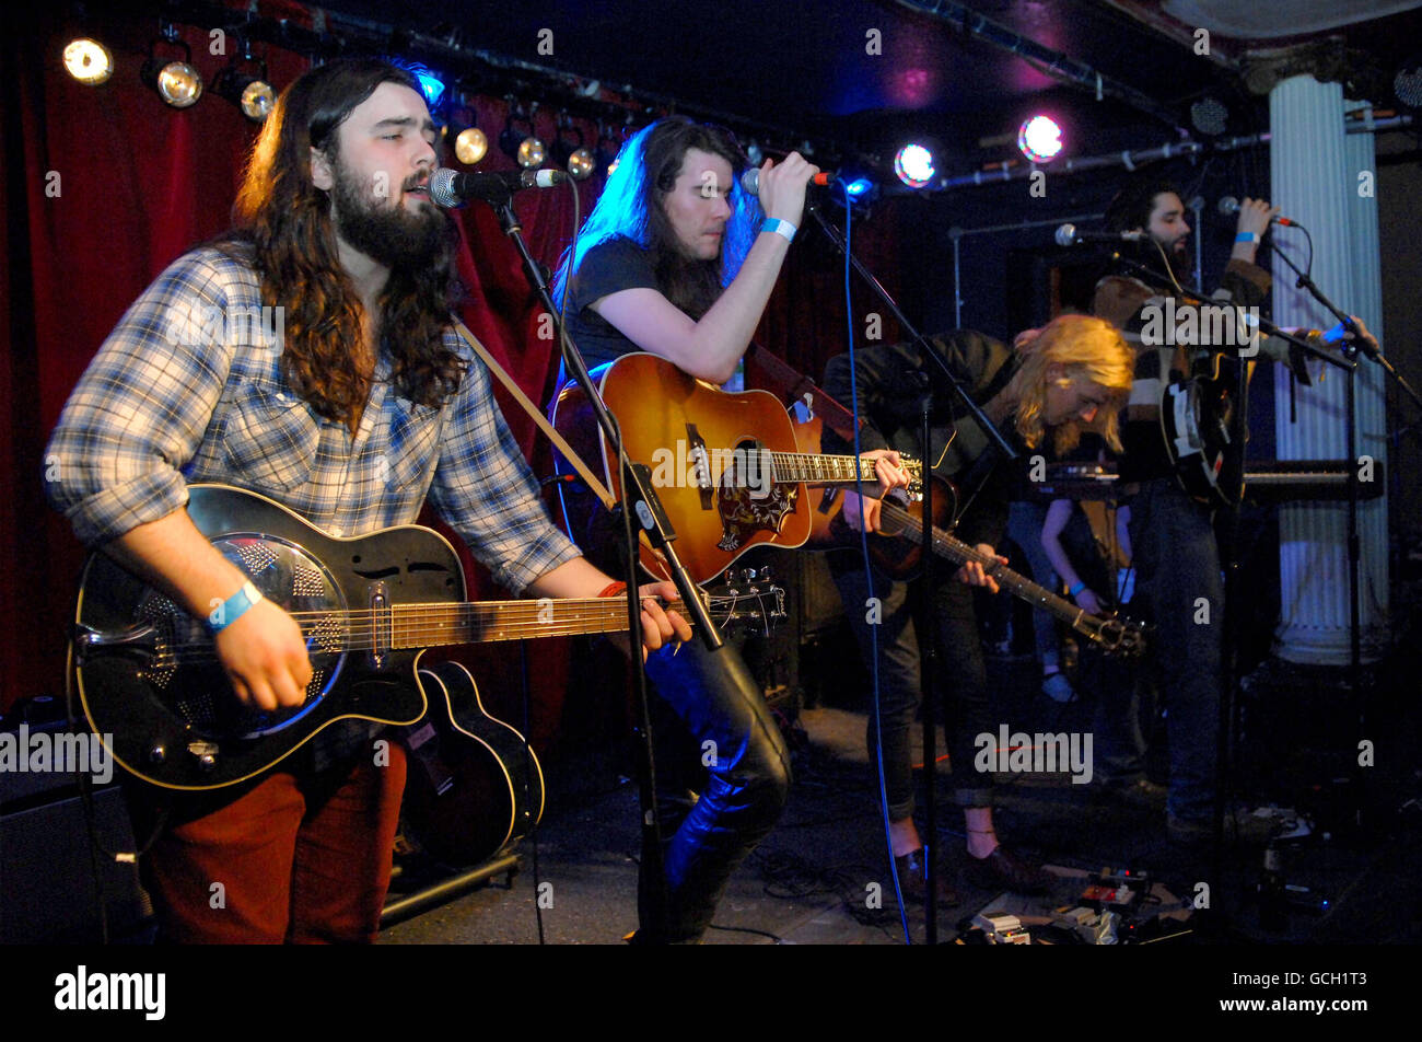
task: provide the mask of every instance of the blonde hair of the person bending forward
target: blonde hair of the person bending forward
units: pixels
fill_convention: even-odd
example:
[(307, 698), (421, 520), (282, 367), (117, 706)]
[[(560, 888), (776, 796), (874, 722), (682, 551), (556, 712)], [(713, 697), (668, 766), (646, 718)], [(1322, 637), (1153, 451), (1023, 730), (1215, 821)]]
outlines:
[(1112, 451), (1122, 451), (1119, 413), (1130, 393), (1136, 356), (1121, 337), (1121, 330), (1105, 319), (1059, 315), (1039, 330), (1018, 336), (1014, 346), (1022, 356), (1017, 433), (1028, 448), (1037, 448), (1047, 433), (1047, 367), (1057, 363), (1062, 367), (1062, 386), (1072, 380), (1089, 380), (1105, 387), (1111, 397), (1089, 424), (1069, 420), (1057, 427), (1052, 448), (1057, 453), (1075, 448), (1082, 428), (1086, 428), (1101, 434)]

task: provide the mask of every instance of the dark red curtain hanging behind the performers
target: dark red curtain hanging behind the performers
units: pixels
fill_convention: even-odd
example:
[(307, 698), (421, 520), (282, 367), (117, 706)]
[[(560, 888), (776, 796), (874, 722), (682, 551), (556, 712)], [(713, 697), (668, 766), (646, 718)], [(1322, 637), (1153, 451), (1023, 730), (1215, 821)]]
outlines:
[[(300, 14), (293, 7), (293, 17)], [(6, 337), (0, 366), (0, 709), (26, 696), (64, 692), (67, 626), (84, 551), (68, 522), (44, 502), (43, 451), (50, 430), (128, 305), (169, 262), (228, 225), (243, 157), (256, 135), (256, 127), (222, 98), (208, 94), (178, 111), (139, 83), (138, 65), (155, 30), (151, 19), (118, 23), (109, 33), (105, 41), (118, 67), (107, 84), (94, 88), (63, 71), (58, 23), (46, 24), (46, 14), (33, 17), (40, 24), (0, 44), (0, 223), (7, 241), (0, 260)], [(229, 57), (209, 54), (206, 33), (186, 28), (183, 38), (210, 84)], [(280, 50), (267, 57), (279, 90), (307, 67), (301, 57)], [(496, 140), (506, 102), (479, 98), (476, 111)], [(552, 138), (552, 112), (539, 114), (539, 130)], [(481, 168), (512, 165), (495, 149)], [(599, 186), (596, 178), (582, 185), (584, 215)], [(556, 263), (572, 233), (569, 192), (523, 192), (516, 205), (533, 253)], [(876, 215), (856, 229), (856, 253), (897, 289), (890, 216)], [(546, 401), (557, 362), (553, 343), (538, 337), (539, 309), (518, 255), (488, 208), (469, 206), (459, 222), (459, 273), (469, 289), (465, 322), (525, 391)], [(802, 238), (816, 236), (806, 232)], [(842, 285), (842, 270), (822, 241), (796, 242), (761, 342), (818, 377), (825, 360), (845, 346)], [(862, 337), (867, 307), (857, 310)], [(886, 323), (884, 336), (893, 335)], [(532, 423), (516, 406), (501, 404), (535, 470), (547, 473), (547, 447), (533, 437)], [(466, 568), (475, 596), (495, 595), (468, 558)], [(569, 648), (530, 651), (539, 663), (533, 736), (546, 746), (563, 713)], [(503, 699), (515, 695), (516, 665), (503, 665), (518, 662), (512, 648), (461, 658), (479, 666), (495, 705), (501, 690)], [(611, 678), (602, 686), (614, 690)]]

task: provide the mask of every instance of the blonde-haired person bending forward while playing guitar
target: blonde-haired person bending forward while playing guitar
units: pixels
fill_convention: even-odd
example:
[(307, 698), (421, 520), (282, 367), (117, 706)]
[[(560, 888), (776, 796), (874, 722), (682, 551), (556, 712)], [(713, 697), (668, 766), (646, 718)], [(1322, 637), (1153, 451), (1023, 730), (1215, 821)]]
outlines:
[[(988, 420), (1008, 441), (1025, 450), (1024, 457), (1048, 441), (1055, 447), (1072, 446), (1084, 430), (1118, 444), (1115, 417), (1130, 387), (1133, 357), (1109, 323), (1066, 315), (1020, 335), (1012, 347), (971, 330), (930, 337), (927, 344)], [(966, 411), (937, 362), (924, 357), (923, 349), (912, 343), (865, 347), (855, 354), (853, 386), (849, 357), (842, 354), (830, 359), (826, 367), (825, 390), (845, 403), (850, 401), (852, 390), (857, 393), (860, 419), (866, 424), (860, 433), (863, 451), (897, 448), (912, 453), (931, 465), (934, 477), (951, 480), (960, 501), (968, 504), (958, 521), (958, 538), (988, 557), (997, 555), (1017, 473), (1000, 464), (988, 433)], [(919, 444), (924, 394), (930, 396), (927, 447)], [(846, 450), (846, 443), (826, 434), (825, 451)], [(845, 497), (846, 521), (855, 528), (863, 524), (869, 531), (879, 531), (880, 504), (875, 500), (860, 502), (852, 491)], [(832, 554), (830, 571), (866, 663), (875, 633), (863, 605), (870, 596), (879, 599), (875, 631), (883, 723), (876, 729), (870, 713), (869, 756), (875, 766), (883, 762), (889, 836), (900, 884), (910, 898), (921, 901), (927, 857), (913, 820), (909, 742), (920, 699), (914, 632), (917, 584), (866, 577), (862, 557), (855, 551)], [(946, 719), (954, 793), (964, 810), (967, 831), (968, 878), (985, 887), (1039, 891), (1049, 878), (1001, 846), (993, 824), (993, 776), (974, 769), (975, 736), (995, 735), (1000, 725), (1012, 722), (993, 713), (970, 586), (997, 592), (997, 582), (983, 567), (968, 564), (953, 577), (943, 575), (934, 608), (939, 676), (948, 695)], [(939, 880), (943, 878), (940, 873)], [(937, 900), (951, 904), (956, 898), (944, 885)]]

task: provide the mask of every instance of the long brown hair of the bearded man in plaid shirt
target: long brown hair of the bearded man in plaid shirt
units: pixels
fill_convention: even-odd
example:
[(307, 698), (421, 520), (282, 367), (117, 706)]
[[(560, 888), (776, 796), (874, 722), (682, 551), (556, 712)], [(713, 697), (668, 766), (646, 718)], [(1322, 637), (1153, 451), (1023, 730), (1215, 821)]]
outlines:
[[(338, 155), (341, 122), (383, 83), (419, 91), (405, 70), (380, 58), (320, 65), (287, 87), (267, 115), (232, 206), (223, 245), (250, 259), (262, 300), (284, 309), (282, 367), (324, 417), (350, 424), (370, 397), (360, 293), (346, 275), (331, 202), (311, 184), (311, 148)], [(377, 329), (391, 354), (395, 391), (438, 407), (459, 386), (464, 363), (444, 346), (454, 280), (452, 243), (434, 263), (395, 266), (380, 295)], [(390, 336), (387, 336), (390, 333)]]

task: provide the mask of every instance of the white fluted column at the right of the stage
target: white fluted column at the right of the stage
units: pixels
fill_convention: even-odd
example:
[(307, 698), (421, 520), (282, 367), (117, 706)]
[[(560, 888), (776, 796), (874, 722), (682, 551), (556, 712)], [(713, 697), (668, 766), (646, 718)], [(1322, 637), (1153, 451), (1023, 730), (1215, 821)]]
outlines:
[[(1342, 88), (1298, 75), (1270, 93), (1271, 202), (1314, 236), (1313, 279), (1340, 307), (1379, 333), (1378, 214), (1374, 196), (1359, 196), (1358, 171), (1374, 171), (1372, 135), (1344, 132)], [(1278, 228), (1274, 238), (1304, 266), (1307, 239)], [(1280, 326), (1327, 329), (1332, 316), (1301, 289), (1294, 273), (1274, 262), (1274, 320)], [(1364, 362), (1357, 379), (1358, 453), (1384, 456), (1382, 391)], [(1298, 387), (1298, 419), (1290, 423), (1288, 372), (1274, 367), (1274, 431), (1281, 460), (1342, 460), (1347, 456), (1344, 373), (1310, 363), (1313, 387)], [(1357, 465), (1357, 464), (1355, 464)], [(1382, 480), (1381, 475), (1375, 475)], [(1364, 659), (1386, 638), (1388, 532), (1385, 500), (1358, 515)], [(1276, 653), (1291, 662), (1348, 663), (1348, 505), (1288, 504), (1280, 510), (1281, 619)]]

